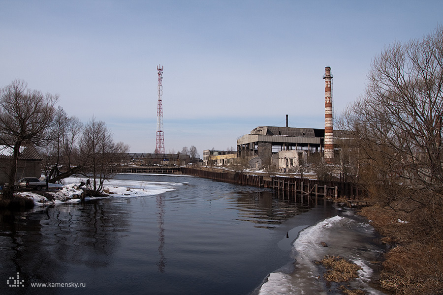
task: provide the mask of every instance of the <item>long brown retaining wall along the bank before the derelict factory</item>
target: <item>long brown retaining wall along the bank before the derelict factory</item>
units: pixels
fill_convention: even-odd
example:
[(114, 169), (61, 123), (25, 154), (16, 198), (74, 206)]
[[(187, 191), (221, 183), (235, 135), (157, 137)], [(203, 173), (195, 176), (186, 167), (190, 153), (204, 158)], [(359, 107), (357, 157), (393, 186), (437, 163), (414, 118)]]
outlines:
[(341, 181), (320, 181), (297, 177), (271, 176), (271, 180), (264, 179), (260, 175), (246, 175), (230, 172), (212, 172), (188, 167), (182, 167), (182, 174), (210, 178), (223, 182), (240, 185), (273, 188), (288, 194), (310, 197), (345, 198), (347, 200), (359, 200), (364, 193), (354, 183)]

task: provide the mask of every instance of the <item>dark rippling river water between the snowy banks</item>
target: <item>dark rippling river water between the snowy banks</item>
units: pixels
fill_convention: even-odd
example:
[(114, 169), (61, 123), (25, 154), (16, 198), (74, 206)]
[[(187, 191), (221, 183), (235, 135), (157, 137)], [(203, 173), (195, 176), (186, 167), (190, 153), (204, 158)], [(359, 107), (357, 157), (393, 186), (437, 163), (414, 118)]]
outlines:
[(116, 178), (173, 190), (1, 211), (0, 294), (258, 293), (291, 262), (300, 230), (340, 213), (322, 200), (296, 204), (267, 189), (197, 177)]

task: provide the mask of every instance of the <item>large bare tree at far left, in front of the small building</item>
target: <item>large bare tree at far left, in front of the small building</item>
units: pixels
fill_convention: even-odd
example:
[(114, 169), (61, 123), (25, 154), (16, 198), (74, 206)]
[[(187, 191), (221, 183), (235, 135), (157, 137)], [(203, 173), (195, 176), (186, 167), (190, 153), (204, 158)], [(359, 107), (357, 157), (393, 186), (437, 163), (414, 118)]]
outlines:
[(23, 80), (15, 80), (0, 90), (0, 143), (13, 149), (5, 199), (13, 197), (20, 148), (40, 146), (51, 139), (57, 100), (58, 95), (28, 89)]

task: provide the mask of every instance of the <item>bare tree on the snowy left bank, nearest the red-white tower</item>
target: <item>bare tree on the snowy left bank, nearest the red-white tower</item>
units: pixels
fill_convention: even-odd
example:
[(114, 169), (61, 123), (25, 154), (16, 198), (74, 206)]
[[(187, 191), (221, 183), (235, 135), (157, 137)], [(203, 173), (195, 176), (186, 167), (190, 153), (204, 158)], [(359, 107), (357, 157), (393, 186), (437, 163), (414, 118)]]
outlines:
[(119, 156), (128, 149), (121, 142), (114, 143), (112, 133), (103, 121), (92, 118), (86, 124), (80, 138), (79, 152), (85, 160), (85, 172), (93, 177), (93, 193), (101, 192), (103, 182), (110, 176), (107, 168), (118, 162)]

